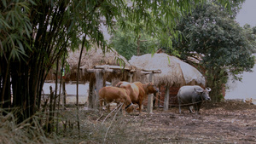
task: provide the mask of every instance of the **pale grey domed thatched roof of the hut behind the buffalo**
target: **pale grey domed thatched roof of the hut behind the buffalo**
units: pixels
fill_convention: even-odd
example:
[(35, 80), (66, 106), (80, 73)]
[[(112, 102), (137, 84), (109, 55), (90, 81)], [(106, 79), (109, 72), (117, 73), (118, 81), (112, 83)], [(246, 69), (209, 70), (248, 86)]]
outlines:
[(141, 56), (132, 56), (129, 62), (132, 66), (136, 66), (139, 69), (160, 69), (161, 73), (154, 74), (154, 84), (156, 85), (205, 85), (205, 78), (201, 72), (199, 72), (194, 66), (190, 66), (175, 56), (163, 53), (154, 55), (146, 54)]

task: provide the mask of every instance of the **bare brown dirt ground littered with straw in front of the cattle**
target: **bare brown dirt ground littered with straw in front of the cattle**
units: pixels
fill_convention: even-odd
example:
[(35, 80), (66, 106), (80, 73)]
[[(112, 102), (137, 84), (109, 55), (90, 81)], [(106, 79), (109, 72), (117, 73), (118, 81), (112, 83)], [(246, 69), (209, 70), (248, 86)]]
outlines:
[[(67, 118), (76, 117), (73, 110), (64, 111)], [(71, 113), (67, 113), (71, 112)], [(256, 106), (242, 101), (224, 101), (216, 104), (204, 103), (201, 114), (189, 113), (177, 107), (164, 112), (162, 108), (154, 113), (123, 117), (113, 112), (96, 112), (81, 108), (81, 137), (78, 130), (69, 132), (72, 143), (255, 143)], [(110, 117), (107, 117), (110, 116)], [(67, 130), (68, 131), (68, 130)], [(61, 139), (63, 141), (63, 139)], [(64, 143), (69, 143), (65, 141)]]

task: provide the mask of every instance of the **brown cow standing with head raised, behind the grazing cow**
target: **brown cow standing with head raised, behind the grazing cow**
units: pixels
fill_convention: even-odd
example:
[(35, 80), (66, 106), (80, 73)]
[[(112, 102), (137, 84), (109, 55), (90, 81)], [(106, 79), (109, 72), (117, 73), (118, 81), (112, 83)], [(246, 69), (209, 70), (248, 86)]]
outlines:
[(140, 113), (142, 112), (143, 100), (148, 96), (148, 94), (159, 91), (152, 83), (142, 84), (141, 82), (119, 82), (116, 86), (129, 90), (128, 95), (130, 95), (131, 102), (138, 104)]

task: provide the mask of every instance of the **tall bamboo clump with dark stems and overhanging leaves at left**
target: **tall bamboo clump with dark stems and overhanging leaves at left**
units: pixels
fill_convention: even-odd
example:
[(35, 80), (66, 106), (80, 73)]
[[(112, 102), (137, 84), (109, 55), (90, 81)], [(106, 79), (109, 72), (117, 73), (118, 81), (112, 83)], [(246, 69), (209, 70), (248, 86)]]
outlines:
[[(229, 0), (219, 1), (229, 6)], [(166, 33), (168, 26), (168, 34), (175, 34), (176, 18), (194, 6), (190, 2), (201, 1), (137, 0), (132, 1), (132, 5), (120, 0), (1, 1), (2, 107), (20, 108), (18, 122), (38, 112), (44, 79), (55, 61), (67, 54), (67, 49), (78, 49), (85, 36), (86, 49), (90, 49), (91, 43), (105, 48), (106, 42), (100, 31), (102, 20), (111, 29), (113, 19), (116, 19), (122, 28), (136, 27), (136, 33), (143, 20), (148, 32), (154, 32), (157, 27), (159, 32)], [(161, 26), (162, 20), (166, 22), (165, 27)], [(11, 91), (13, 104), (7, 102), (11, 100)]]

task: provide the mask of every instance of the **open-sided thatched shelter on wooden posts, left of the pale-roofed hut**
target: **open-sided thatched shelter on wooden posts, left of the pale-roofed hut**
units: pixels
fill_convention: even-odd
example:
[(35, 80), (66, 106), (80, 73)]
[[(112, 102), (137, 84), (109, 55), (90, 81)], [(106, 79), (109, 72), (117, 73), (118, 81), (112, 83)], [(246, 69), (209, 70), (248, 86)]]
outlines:
[[(104, 51), (104, 52), (103, 52)], [(70, 72), (67, 73), (66, 81), (76, 81), (78, 74), (80, 50), (70, 52), (67, 63)], [(106, 81), (112, 85), (119, 81), (130, 81), (136, 72), (125, 57), (119, 55), (114, 49), (102, 49), (97, 46), (90, 50), (84, 50), (79, 66), (79, 81), (90, 82), (89, 86), (89, 107), (98, 107), (98, 91), (105, 86)]]

